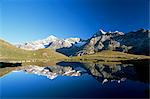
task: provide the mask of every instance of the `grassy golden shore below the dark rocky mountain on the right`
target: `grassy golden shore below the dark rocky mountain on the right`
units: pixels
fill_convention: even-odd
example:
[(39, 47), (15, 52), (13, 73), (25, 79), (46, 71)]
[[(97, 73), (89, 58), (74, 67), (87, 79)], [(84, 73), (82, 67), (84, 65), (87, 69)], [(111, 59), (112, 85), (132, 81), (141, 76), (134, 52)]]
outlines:
[(67, 61), (80, 62), (121, 62), (126, 60), (150, 59), (150, 56), (133, 55), (123, 52), (105, 50), (91, 55), (74, 56)]

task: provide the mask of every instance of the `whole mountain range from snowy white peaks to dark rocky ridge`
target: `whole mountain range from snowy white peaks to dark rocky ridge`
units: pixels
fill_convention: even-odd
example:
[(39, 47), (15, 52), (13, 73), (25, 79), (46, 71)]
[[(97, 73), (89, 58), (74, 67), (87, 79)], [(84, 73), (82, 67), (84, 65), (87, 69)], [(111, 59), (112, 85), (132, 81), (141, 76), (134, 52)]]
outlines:
[(46, 39), (17, 44), (16, 47), (25, 50), (50, 48), (67, 56), (94, 54), (102, 50), (149, 55), (149, 33), (150, 30), (145, 29), (129, 33), (105, 32), (99, 29), (88, 40), (81, 40), (80, 38), (60, 39), (51, 35)]

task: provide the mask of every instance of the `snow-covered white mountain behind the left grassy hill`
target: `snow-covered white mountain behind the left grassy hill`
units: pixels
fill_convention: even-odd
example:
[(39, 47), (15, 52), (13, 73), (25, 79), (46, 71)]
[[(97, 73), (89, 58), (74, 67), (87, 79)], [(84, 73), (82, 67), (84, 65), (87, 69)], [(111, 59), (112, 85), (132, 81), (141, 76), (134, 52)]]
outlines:
[(41, 48), (50, 48), (50, 49), (59, 49), (59, 48), (68, 48), (73, 45), (79, 46), (81, 39), (80, 38), (67, 38), (60, 39), (53, 35), (47, 37), (46, 39), (37, 40), (33, 42), (28, 42), (24, 44), (18, 44), (16, 47), (25, 49), (25, 50), (38, 50)]

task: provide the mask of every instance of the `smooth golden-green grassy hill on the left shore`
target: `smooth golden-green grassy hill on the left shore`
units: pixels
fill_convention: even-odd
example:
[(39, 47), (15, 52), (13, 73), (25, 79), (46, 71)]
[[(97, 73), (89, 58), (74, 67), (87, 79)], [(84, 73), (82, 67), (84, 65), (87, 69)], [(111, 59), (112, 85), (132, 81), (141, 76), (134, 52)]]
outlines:
[(39, 60), (59, 60), (67, 58), (65, 55), (57, 53), (51, 49), (39, 49), (35, 51), (16, 48), (10, 43), (0, 40), (0, 60), (1, 61), (39, 61)]

